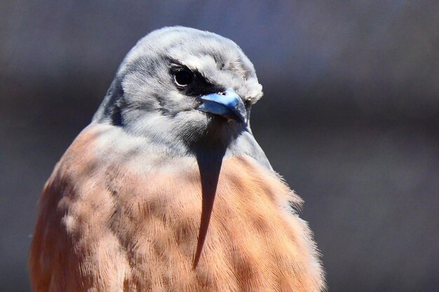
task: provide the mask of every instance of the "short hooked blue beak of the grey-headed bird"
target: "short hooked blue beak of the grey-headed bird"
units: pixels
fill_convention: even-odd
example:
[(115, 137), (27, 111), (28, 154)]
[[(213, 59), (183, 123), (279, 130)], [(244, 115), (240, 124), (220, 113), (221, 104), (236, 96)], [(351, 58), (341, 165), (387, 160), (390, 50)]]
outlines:
[(233, 89), (227, 88), (224, 92), (201, 95), (200, 99), (203, 103), (198, 106), (198, 110), (247, 123), (247, 111), (243, 100)]

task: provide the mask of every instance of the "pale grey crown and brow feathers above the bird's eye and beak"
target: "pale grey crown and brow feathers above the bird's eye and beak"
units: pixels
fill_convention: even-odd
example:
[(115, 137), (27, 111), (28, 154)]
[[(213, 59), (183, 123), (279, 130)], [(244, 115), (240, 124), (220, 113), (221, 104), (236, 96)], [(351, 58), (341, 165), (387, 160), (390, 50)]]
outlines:
[[(212, 32), (188, 27), (165, 27), (140, 39), (119, 68), (118, 75), (147, 66), (145, 60), (178, 62), (198, 71), (206, 80), (234, 90), (255, 104), (262, 97), (255, 68), (233, 41)], [(146, 68), (148, 69), (148, 68)], [(163, 80), (163, 82), (165, 82)]]

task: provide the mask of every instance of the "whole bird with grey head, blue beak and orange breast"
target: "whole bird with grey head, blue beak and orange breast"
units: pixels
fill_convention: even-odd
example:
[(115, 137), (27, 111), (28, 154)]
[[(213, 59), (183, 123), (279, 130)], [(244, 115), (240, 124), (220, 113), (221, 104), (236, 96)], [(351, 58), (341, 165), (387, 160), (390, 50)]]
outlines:
[(33, 291), (323, 291), (302, 199), (250, 130), (261, 97), (230, 39), (140, 39), (43, 188)]

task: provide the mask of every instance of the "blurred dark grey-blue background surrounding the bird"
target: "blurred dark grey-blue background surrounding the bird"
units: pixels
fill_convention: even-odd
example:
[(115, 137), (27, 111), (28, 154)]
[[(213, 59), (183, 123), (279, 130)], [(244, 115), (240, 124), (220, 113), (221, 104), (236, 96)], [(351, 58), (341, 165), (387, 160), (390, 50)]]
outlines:
[(305, 200), (330, 291), (439, 291), (437, 1), (0, 2), (0, 291), (29, 291), (43, 183), (163, 26), (255, 64), (252, 129)]

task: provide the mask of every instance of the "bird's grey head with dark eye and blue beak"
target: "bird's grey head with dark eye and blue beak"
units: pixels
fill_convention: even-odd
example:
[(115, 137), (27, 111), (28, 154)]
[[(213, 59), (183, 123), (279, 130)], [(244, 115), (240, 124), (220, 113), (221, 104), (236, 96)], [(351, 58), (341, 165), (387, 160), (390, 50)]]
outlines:
[(165, 27), (137, 42), (119, 67), (95, 120), (187, 151), (228, 144), (249, 131), (262, 97), (255, 68), (236, 43), (187, 27)]

